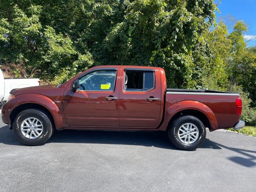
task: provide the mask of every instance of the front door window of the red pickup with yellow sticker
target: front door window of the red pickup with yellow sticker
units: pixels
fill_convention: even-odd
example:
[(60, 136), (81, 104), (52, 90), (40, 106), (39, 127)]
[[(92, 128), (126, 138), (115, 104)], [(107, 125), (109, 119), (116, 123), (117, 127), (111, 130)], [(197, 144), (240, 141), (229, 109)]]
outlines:
[(93, 71), (79, 79), (79, 90), (112, 91), (116, 80), (116, 70)]

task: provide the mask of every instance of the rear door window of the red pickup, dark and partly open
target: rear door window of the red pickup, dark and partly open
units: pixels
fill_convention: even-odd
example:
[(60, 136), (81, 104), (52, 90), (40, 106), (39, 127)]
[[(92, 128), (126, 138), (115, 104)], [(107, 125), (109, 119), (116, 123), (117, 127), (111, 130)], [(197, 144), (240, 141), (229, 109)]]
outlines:
[(154, 88), (154, 71), (126, 70), (125, 91), (148, 91)]

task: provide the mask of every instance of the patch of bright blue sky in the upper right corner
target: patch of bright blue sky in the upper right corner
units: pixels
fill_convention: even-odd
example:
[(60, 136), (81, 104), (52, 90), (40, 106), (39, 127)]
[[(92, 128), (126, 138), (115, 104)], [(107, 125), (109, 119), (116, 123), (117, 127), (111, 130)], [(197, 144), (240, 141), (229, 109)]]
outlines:
[[(218, 3), (219, 0), (215, 0)], [(243, 20), (248, 25), (244, 38), (251, 40), (248, 46), (256, 46), (256, 0), (221, 0), (218, 4), (220, 13), (216, 17), (230, 15), (236, 20)]]

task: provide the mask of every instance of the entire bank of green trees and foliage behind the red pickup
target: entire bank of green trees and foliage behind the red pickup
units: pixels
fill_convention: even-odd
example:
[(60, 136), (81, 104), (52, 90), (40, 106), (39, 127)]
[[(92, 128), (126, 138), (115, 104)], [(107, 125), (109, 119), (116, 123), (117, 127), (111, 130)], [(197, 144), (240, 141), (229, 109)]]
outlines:
[(241, 92), (254, 124), (256, 48), (244, 22), (229, 32), (215, 11), (214, 0), (5, 0), (0, 65), (48, 83), (97, 65), (160, 66), (168, 87)]

